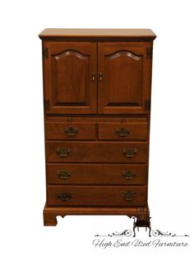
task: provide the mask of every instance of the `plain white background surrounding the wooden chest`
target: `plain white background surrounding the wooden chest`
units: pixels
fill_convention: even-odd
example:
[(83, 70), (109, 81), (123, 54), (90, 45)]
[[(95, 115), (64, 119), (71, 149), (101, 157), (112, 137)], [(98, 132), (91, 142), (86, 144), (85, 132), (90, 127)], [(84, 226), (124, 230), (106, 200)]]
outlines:
[[(40, 31), (150, 28), (153, 59), (149, 204), (152, 227), (192, 235), (193, 1), (2, 1), (0, 7), (1, 255), (191, 255), (184, 249), (96, 249), (94, 235), (130, 228), (127, 216), (58, 217), (44, 227)], [(149, 240), (144, 229), (139, 238)], [(171, 239), (175, 240), (175, 239)], [(168, 239), (170, 241), (170, 238)], [(2, 252), (1, 252), (2, 251)]]

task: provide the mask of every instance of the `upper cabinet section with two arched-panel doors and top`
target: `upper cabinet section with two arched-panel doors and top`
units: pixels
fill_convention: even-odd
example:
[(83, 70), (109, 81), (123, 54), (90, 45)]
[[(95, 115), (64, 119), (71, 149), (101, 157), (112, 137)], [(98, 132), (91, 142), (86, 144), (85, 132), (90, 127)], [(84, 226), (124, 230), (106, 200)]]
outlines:
[(150, 30), (46, 29), (44, 101), (48, 114), (150, 111)]

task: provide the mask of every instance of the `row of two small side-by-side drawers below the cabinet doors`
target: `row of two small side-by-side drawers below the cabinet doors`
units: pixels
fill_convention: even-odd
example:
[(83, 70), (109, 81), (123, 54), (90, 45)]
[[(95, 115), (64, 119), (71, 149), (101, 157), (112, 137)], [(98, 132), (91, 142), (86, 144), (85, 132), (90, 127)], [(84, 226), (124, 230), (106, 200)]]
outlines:
[[(146, 140), (147, 122), (47, 121), (47, 140)], [(68, 130), (75, 130), (69, 134)], [(126, 130), (126, 132), (125, 132)], [(124, 132), (123, 132), (124, 131)]]

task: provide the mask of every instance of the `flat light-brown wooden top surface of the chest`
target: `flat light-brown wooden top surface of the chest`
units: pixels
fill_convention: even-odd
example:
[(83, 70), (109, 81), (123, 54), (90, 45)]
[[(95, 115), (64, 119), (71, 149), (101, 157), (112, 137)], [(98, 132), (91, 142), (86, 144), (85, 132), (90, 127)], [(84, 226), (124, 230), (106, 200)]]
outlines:
[(123, 37), (123, 38), (148, 38), (155, 39), (155, 33), (150, 29), (68, 29), (46, 28), (39, 34), (39, 38), (51, 37)]

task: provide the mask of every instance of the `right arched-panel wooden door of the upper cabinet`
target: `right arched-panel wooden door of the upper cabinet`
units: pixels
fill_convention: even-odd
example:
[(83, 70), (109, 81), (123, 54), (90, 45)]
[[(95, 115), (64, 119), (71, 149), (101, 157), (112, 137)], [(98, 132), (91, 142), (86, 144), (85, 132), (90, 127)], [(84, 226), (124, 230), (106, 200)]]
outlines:
[(151, 42), (99, 43), (100, 114), (144, 113), (149, 110), (150, 47)]

